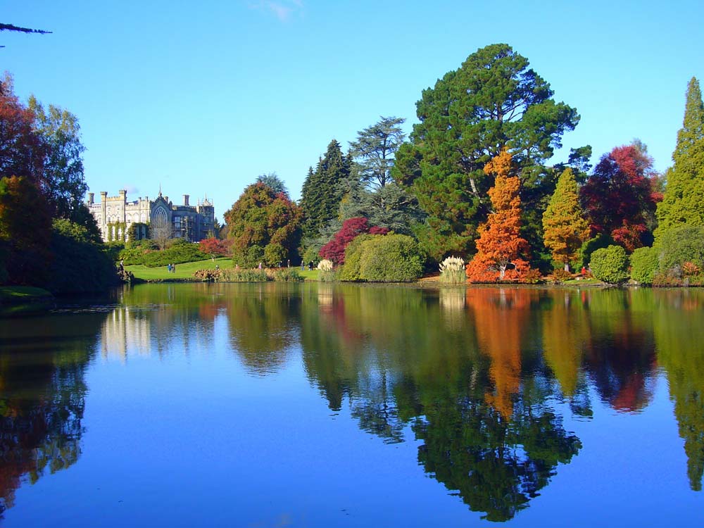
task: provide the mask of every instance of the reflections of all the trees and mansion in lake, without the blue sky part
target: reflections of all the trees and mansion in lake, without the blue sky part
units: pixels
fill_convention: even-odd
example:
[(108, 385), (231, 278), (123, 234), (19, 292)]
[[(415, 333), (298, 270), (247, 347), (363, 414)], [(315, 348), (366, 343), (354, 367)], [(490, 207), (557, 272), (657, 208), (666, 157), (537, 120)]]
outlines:
[(108, 314), (0, 321), (12, 336), (0, 354), (4, 507), (23, 479), (80, 455), (94, 351), (127, 362), (218, 342), (251, 379), (300, 354), (332, 414), (386, 444), (416, 441), (422, 470), (491, 521), (528, 508), (579, 457), (565, 424), (596, 406), (642, 413), (664, 375), (701, 489), (704, 291), (182, 284), (121, 301)]

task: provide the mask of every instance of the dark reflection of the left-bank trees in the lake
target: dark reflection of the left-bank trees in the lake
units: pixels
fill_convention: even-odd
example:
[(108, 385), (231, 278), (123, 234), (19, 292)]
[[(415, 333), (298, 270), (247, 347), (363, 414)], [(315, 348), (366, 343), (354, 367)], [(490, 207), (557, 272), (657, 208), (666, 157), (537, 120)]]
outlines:
[(81, 453), (84, 372), (103, 314), (0, 320), (0, 513)]

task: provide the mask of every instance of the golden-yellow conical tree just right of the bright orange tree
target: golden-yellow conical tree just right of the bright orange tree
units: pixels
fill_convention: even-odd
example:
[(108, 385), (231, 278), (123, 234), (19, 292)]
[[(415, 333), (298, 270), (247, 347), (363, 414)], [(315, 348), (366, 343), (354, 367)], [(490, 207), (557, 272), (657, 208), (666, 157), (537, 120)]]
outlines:
[(553, 258), (570, 271), (570, 260), (589, 238), (589, 222), (579, 206), (579, 189), (572, 169), (565, 169), (543, 213), (543, 241), (553, 252)]

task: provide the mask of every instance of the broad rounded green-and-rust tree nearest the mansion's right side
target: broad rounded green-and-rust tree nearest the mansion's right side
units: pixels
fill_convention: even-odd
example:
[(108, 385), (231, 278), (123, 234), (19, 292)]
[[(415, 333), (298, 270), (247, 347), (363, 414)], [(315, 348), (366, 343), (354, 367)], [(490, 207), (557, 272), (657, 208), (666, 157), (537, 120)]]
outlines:
[(225, 213), (233, 260), (239, 265), (256, 265), (270, 244), (284, 249), (282, 258), (294, 258), (302, 218), (303, 211), (286, 194), (261, 182), (249, 185)]

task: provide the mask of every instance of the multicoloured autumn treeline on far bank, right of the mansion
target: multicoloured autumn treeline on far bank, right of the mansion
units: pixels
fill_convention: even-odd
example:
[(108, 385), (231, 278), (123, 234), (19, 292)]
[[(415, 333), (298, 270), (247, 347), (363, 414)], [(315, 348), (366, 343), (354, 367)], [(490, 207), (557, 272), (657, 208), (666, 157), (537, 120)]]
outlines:
[[(271, 236), (265, 224), (273, 217), (291, 225), (277, 240), (282, 249), (271, 249), (272, 255), (304, 263), (325, 258), (340, 268), (338, 278), (358, 277), (342, 269), (346, 246), (370, 230), (349, 236), (346, 222), (364, 219), (369, 228), (384, 230), (372, 233), (377, 237), (412, 237), (426, 272), (449, 256), (474, 258), (470, 281), (494, 282), (508, 272), (513, 280), (532, 282), (539, 275), (531, 269), (545, 275), (589, 268), (596, 252), (592, 271), (605, 282), (628, 279), (631, 264), (633, 277), (646, 284), (653, 280), (643, 277), (650, 276), (655, 284), (704, 282), (701, 234), (690, 232), (695, 249), (661, 244), (670, 230), (704, 224), (698, 199), (704, 192), (704, 110), (696, 79), (687, 91), (674, 165), (665, 175), (653, 170), (653, 158), (638, 139), (604, 153), (593, 168), (589, 145), (555, 163), (553, 152), (579, 125), (579, 113), (558, 102), (549, 82), (507, 44), (471, 54), (422, 90), (416, 108), (419, 122), (408, 137), (403, 118), (382, 117), (360, 130), (346, 153), (333, 139), (308, 170), (301, 200), (291, 204), (299, 209), (289, 220), (280, 206), (252, 203), (248, 187), (226, 218), (236, 258), (275, 263), (263, 254)], [(508, 158), (497, 165), (501, 156)], [(508, 192), (505, 178), (512, 189), (517, 182), (514, 195), (502, 196)], [(510, 230), (490, 227), (503, 225), (505, 215), (515, 216)], [(227, 230), (243, 221), (246, 232)], [(490, 251), (478, 256), (482, 233)], [(339, 246), (329, 251), (330, 244)], [(619, 246), (624, 256), (609, 246)], [(643, 248), (653, 247), (655, 257), (645, 258)], [(242, 258), (245, 253), (252, 258)], [(657, 270), (641, 270), (655, 260)], [(403, 280), (393, 270), (382, 275)]]

